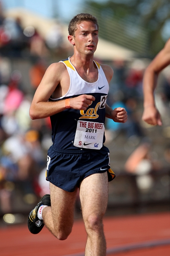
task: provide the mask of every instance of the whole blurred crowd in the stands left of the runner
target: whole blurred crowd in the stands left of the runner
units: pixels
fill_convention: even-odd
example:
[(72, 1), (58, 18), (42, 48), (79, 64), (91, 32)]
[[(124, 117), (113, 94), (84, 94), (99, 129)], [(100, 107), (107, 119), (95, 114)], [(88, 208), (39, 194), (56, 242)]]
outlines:
[[(47, 68), (45, 57), (61, 41), (57, 24), (43, 39), (36, 28), (23, 28), (20, 18), (4, 16), (0, 5), (0, 213), (13, 211), (17, 193), (23, 204), (49, 193), (44, 168), (51, 124), (49, 118), (31, 120), (29, 109)], [(29, 57), (31, 90), (24, 89), (21, 70), (12, 67), (24, 56)]]

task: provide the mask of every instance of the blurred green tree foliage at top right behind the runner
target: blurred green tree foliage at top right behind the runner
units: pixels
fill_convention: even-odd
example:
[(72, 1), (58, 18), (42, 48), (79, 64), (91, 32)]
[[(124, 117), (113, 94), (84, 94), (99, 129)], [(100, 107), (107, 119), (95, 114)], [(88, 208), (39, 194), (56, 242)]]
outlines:
[[(111, 30), (118, 27), (124, 46), (136, 50), (140, 55), (154, 56), (168, 39), (163, 34), (170, 22), (170, 0), (109, 0), (103, 2), (86, 1), (85, 9), (97, 16), (99, 25), (109, 22), (102, 37), (109, 40)], [(106, 25), (105, 25), (106, 26)], [(106, 26), (107, 27), (107, 26)], [(139, 33), (140, 32), (140, 33)], [(129, 36), (126, 34), (128, 33)], [(123, 45), (117, 33), (110, 40)]]

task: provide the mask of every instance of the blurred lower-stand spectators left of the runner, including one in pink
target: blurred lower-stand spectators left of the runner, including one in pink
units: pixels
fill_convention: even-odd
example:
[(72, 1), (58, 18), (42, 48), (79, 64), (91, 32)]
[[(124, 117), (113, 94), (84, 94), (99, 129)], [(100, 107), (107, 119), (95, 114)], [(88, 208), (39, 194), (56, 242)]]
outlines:
[[(3, 58), (1, 60), (3, 62)], [(16, 184), (27, 203), (36, 199), (34, 194), (41, 194), (36, 181), (46, 165), (45, 153), (51, 145), (49, 118), (30, 119), (32, 95), (24, 93), (21, 80), (20, 71), (14, 70), (9, 72), (6, 83), (0, 84), (0, 202), (3, 211), (10, 209), (11, 193)]]

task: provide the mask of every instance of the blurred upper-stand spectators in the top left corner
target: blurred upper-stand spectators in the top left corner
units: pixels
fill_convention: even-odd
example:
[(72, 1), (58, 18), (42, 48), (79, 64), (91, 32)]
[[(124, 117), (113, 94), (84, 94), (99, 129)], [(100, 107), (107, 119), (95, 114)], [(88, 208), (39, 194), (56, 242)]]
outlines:
[(0, 2), (0, 54), (1, 56), (23, 57), (36, 55), (47, 57), (50, 51), (62, 48), (61, 25), (56, 21), (45, 38), (34, 26), (22, 26), (20, 17), (5, 16)]

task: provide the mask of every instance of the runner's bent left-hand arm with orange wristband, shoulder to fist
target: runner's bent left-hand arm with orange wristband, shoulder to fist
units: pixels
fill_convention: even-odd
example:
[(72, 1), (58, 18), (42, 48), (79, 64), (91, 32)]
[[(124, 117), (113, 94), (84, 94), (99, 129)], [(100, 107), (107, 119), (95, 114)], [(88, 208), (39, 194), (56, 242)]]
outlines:
[[(47, 68), (32, 100), (30, 107), (32, 119), (46, 118), (66, 109), (65, 100), (48, 101), (57, 85), (65, 86), (65, 83), (62, 82), (65, 72), (67, 72), (66, 68), (62, 63), (53, 63)], [(62, 89), (64, 90), (64, 88)], [(95, 97), (86, 94), (71, 98), (70, 108), (86, 110), (92, 100), (94, 101)]]

